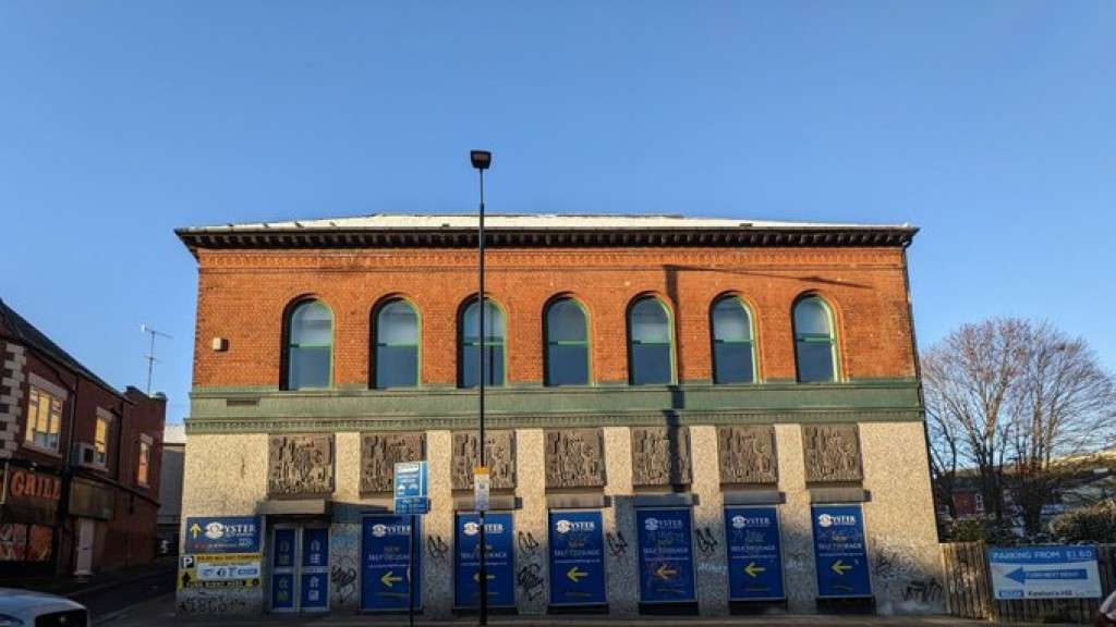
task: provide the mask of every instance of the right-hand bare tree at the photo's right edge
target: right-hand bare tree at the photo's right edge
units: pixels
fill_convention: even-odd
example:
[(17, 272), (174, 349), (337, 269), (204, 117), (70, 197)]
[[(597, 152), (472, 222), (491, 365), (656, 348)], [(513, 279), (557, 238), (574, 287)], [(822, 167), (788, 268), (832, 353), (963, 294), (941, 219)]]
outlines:
[(1091, 471), (1112, 442), (1116, 422), (1113, 378), (1081, 338), (1048, 324), (1031, 326), (1026, 361), (1012, 390), (1009, 474), (1028, 533), (1042, 528), (1042, 507)]

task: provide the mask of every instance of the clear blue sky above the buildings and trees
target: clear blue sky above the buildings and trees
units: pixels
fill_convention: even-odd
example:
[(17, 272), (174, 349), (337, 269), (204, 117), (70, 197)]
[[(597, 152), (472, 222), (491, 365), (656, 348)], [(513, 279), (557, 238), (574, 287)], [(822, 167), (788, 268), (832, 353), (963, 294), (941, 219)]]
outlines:
[(0, 298), (187, 413), (175, 226), (466, 212), (911, 222), (923, 345), (1116, 368), (1116, 3), (0, 3)]

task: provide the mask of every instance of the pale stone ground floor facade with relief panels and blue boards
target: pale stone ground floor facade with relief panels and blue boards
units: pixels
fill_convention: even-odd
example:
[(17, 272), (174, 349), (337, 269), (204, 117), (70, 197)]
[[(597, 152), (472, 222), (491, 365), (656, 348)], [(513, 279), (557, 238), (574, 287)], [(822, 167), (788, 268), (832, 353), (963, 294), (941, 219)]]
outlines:
[[(843, 418), (498, 427), (488, 438), (492, 605), (519, 615), (625, 617), (769, 608), (808, 614), (833, 605), (881, 614), (942, 611), (924, 423)], [(453, 426), (459, 424), (468, 423)], [(397, 610), (406, 570), (391, 560), (407, 543), (384, 544), (406, 522), (392, 517), (392, 472), (395, 462), (422, 459), (429, 462), (431, 511), (413, 544), (419, 604), (430, 618), (469, 611), (477, 586), (468, 581), (474, 571), (460, 549), (475, 546), (475, 432), (283, 428), (191, 431), (183, 559), (193, 559), (191, 536), (206, 533), (195, 522), (251, 517), (246, 520), (259, 525), (258, 543), (244, 552), (257, 551), (259, 561), (256, 571), (246, 567), (240, 581), (220, 581), (212, 576), (219, 569), (211, 568), (203, 586), (201, 566), (184, 563), (191, 569), (180, 571), (180, 612)], [(752, 511), (775, 512), (773, 541), (770, 533), (734, 533), (734, 527), (751, 531)], [(855, 523), (849, 533), (839, 531), (846, 518)], [(663, 530), (674, 529), (672, 521), (679, 541), (664, 551), (662, 539), (670, 537)], [(555, 534), (562, 529), (588, 530), (588, 540), (571, 544)], [(573, 552), (559, 551), (559, 540)], [(834, 553), (834, 560), (826, 553), (858, 541), (859, 556)], [(733, 553), (741, 543), (759, 552)], [(654, 561), (672, 551), (667, 561)], [(767, 562), (759, 559), (764, 554)], [(493, 565), (493, 556), (501, 563)], [(844, 577), (864, 580), (845, 585)], [(749, 588), (749, 578), (766, 581), (768, 591)], [(577, 591), (579, 586), (587, 591)]]

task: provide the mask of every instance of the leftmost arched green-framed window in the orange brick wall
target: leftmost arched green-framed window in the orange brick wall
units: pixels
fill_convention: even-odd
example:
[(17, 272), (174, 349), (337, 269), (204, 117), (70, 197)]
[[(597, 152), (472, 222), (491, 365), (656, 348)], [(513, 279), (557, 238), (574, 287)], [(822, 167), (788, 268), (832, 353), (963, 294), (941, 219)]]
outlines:
[(320, 300), (299, 302), (287, 317), (287, 389), (329, 387), (333, 368), (333, 312)]

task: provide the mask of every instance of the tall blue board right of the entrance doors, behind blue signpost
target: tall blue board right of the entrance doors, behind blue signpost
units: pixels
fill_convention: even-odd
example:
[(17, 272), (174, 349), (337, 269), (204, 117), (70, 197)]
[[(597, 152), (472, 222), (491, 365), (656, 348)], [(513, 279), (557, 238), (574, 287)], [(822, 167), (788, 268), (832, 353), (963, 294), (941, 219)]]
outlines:
[[(422, 519), (415, 518), (416, 521)], [(421, 527), (416, 536), (422, 537)], [(415, 554), (415, 608), (422, 607), (422, 551)], [(360, 609), (404, 610), (411, 604), (411, 517), (369, 515), (360, 524)]]

